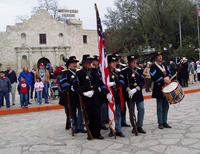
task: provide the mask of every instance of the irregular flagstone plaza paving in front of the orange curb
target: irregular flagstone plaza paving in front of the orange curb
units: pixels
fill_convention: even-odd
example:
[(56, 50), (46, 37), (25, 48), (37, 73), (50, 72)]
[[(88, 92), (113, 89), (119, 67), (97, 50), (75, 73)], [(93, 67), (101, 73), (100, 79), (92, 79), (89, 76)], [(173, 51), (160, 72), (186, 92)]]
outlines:
[[(171, 129), (157, 128), (155, 99), (145, 100), (144, 129), (135, 136), (123, 127), (125, 138), (88, 141), (86, 134), (65, 130), (64, 110), (0, 116), (0, 154), (196, 154), (200, 153), (200, 92), (186, 94), (180, 106), (170, 106)], [(129, 116), (127, 115), (127, 122)]]

